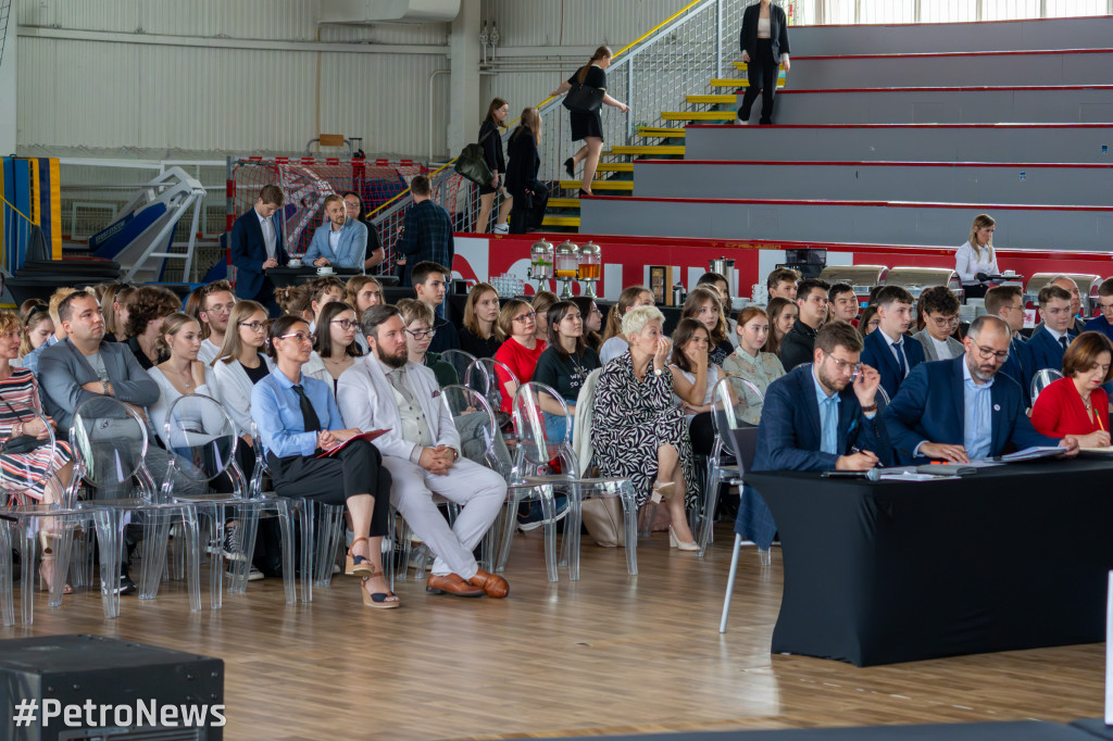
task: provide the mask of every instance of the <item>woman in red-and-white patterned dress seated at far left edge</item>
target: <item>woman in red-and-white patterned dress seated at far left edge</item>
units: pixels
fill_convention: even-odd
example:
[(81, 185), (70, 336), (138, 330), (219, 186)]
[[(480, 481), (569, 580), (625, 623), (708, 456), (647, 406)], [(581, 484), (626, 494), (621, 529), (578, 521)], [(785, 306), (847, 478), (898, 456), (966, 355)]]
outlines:
[[(14, 312), (0, 310), (0, 439), (13, 441), (18, 437), (47, 439), (48, 426), (55, 427), (50, 417), (41, 414), (39, 385), (35, 374), (27, 368), (13, 368), (11, 362), (19, 357), (19, 344), (23, 337), (23, 325)], [(43, 422), (46, 419), (46, 422)], [(61, 435), (65, 437), (65, 434)], [(9, 504), (26, 505), (41, 502), (50, 504), (61, 497), (61, 492), (73, 475), (73, 456), (69, 445), (61, 438), (49, 446), (41, 446), (26, 453), (0, 452), (0, 468), (3, 491), (10, 497)], [(50, 478), (53, 472), (57, 481)], [(48, 518), (49, 520), (49, 518)], [(51, 567), (53, 553), (50, 543), (50, 524), (43, 521), (39, 536), (42, 540), (42, 563), (39, 573), (49, 585), (53, 581)], [(71, 590), (66, 587), (66, 592)]]

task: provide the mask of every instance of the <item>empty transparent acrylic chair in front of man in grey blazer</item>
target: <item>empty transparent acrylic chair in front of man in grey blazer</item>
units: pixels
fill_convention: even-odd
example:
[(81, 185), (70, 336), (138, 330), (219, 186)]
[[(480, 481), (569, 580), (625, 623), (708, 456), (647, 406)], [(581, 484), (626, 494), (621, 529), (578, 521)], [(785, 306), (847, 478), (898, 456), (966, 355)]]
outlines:
[(107, 595), (105, 618), (119, 615), (124, 526), (132, 518), (141, 522), (144, 531), (139, 599), (157, 596), (166, 569), (170, 521), (179, 518), (186, 547), (189, 609), (194, 612), (201, 609), (197, 508), (189, 503), (158, 501), (155, 481), (147, 468), (148, 445), (146, 419), (135, 407), (114, 397), (89, 398), (73, 413), (70, 446), (75, 472), (70, 488), (76, 492), (82, 480), (91, 488), (93, 498), (78, 502), (77, 506), (91, 512), (97, 524), (100, 589)]

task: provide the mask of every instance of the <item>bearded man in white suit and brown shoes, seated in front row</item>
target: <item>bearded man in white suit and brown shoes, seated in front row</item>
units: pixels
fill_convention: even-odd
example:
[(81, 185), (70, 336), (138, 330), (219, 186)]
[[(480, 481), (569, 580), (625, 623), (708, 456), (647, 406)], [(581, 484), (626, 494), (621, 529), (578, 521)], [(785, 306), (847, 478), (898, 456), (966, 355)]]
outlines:
[[(394, 478), (391, 502), (436, 554), (426, 591), (506, 596), (506, 580), (480, 569), (472, 554), (506, 501), (505, 482), (460, 457), (460, 434), (433, 372), (407, 360), (398, 309), (372, 306), (362, 324), (371, 353), (341, 375), (336, 402), (346, 424), (390, 431), (375, 445)], [(463, 505), (451, 527), (433, 494)]]

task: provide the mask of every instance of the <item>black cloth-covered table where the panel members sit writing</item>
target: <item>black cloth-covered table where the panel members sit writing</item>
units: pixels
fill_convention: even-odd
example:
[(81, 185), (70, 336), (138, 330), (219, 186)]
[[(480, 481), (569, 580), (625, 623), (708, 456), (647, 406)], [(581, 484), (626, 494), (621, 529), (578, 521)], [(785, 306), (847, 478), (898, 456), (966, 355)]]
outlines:
[(746, 480), (784, 549), (774, 653), (867, 666), (1105, 640), (1113, 462), (923, 483)]

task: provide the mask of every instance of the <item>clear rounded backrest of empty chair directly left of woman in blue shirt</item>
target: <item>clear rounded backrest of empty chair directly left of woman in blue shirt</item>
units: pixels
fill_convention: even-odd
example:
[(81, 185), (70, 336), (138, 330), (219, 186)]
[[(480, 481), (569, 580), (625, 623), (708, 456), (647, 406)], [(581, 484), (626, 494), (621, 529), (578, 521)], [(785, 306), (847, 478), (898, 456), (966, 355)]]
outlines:
[(169, 498), (181, 480), (213, 484), (227, 477), (236, 498), (248, 495), (244, 472), (236, 463), (239, 436), (232, 417), (219, 402), (204, 394), (179, 396), (166, 414), (164, 438), (168, 443), (169, 465), (161, 495)]

